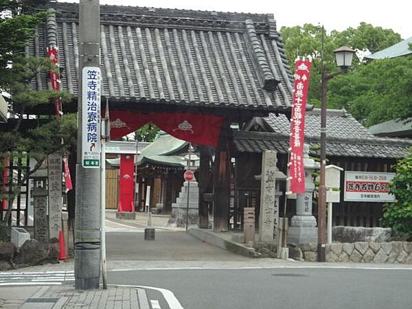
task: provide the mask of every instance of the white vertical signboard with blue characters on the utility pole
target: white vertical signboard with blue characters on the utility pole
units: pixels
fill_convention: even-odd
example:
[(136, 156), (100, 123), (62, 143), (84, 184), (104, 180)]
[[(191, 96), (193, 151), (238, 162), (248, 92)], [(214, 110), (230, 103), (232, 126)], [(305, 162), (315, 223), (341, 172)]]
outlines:
[(82, 166), (100, 168), (100, 68), (82, 71)]

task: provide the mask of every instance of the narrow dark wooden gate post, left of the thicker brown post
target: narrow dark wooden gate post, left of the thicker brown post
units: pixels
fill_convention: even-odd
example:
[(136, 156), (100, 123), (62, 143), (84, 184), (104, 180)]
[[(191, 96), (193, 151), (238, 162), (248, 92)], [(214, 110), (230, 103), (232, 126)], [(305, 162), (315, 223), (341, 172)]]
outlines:
[(201, 162), (199, 168), (199, 227), (201, 229), (207, 229), (209, 227), (209, 210), (207, 206), (209, 203), (205, 201), (204, 194), (207, 192), (210, 181), (210, 155), (209, 148), (206, 146), (200, 146)]

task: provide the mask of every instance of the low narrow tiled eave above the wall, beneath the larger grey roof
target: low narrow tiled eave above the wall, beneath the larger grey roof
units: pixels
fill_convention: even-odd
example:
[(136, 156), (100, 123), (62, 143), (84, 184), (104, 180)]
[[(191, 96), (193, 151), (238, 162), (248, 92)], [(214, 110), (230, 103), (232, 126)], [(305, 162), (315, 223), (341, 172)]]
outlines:
[[(286, 154), (289, 148), (289, 137), (277, 133), (237, 132), (233, 143), (239, 152), (262, 152), (276, 150)], [(306, 137), (305, 143), (319, 146), (319, 137)], [(409, 153), (412, 141), (405, 139), (385, 138), (332, 138), (327, 137), (326, 155), (328, 157), (358, 157), (358, 158), (402, 158)], [(315, 155), (312, 153), (311, 155)]]

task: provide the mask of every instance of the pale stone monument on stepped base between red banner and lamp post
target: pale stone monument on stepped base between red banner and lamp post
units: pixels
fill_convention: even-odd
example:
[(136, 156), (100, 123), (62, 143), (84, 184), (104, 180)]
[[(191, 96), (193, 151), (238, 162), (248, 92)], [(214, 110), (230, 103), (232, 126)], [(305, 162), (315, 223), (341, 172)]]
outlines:
[(309, 146), (304, 144), (305, 193), (297, 194), (296, 216), (290, 220), (288, 242), (301, 244), (317, 242), (317, 222), (312, 216), (312, 196), (314, 183), (312, 170), (320, 168), (318, 162), (309, 158)]

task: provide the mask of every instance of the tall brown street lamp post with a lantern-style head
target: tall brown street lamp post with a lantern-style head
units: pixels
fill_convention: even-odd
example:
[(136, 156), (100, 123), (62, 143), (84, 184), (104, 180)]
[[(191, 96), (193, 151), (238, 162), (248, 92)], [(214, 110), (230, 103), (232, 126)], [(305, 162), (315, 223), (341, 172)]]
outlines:
[(352, 66), (352, 59), (355, 54), (354, 49), (343, 46), (334, 50), (336, 65), (341, 71), (328, 74), (322, 58), (322, 77), (321, 77), (321, 174), (319, 184), (318, 199), (318, 262), (325, 262), (325, 243), (326, 243), (326, 187), (325, 187), (325, 167), (326, 167), (326, 90), (328, 81), (335, 76), (347, 73), (347, 69)]

